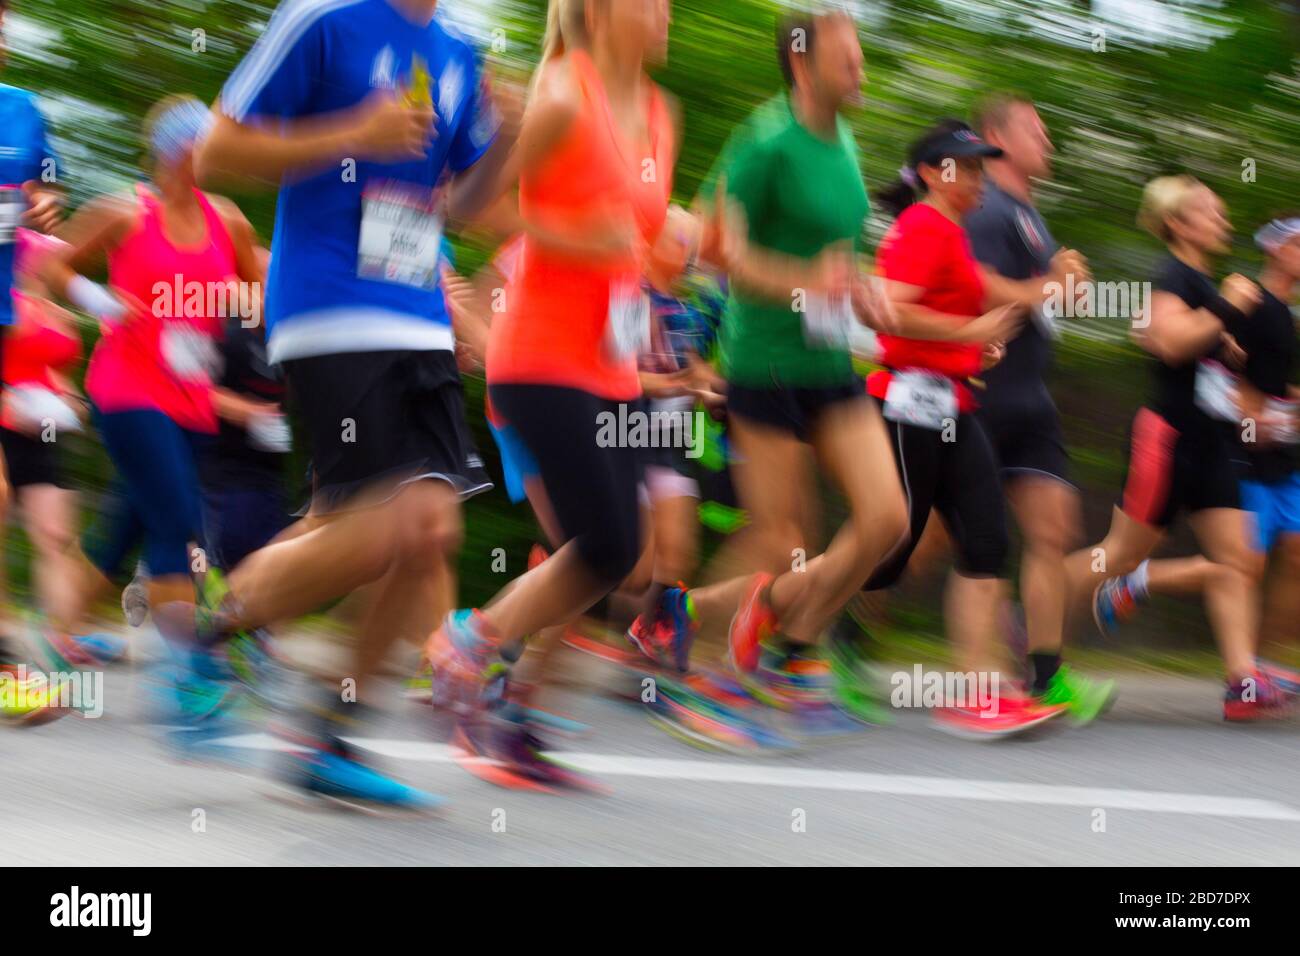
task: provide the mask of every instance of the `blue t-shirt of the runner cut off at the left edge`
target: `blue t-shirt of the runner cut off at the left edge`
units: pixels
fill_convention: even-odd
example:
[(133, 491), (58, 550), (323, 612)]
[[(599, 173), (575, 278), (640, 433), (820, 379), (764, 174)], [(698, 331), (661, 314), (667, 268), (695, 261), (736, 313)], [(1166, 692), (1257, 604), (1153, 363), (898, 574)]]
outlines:
[[(47, 172), (48, 170), (48, 172)], [(22, 183), (55, 182), (57, 160), (46, 135), (46, 118), (26, 90), (0, 85), (0, 325), (13, 324), (14, 226), (26, 211)]]

